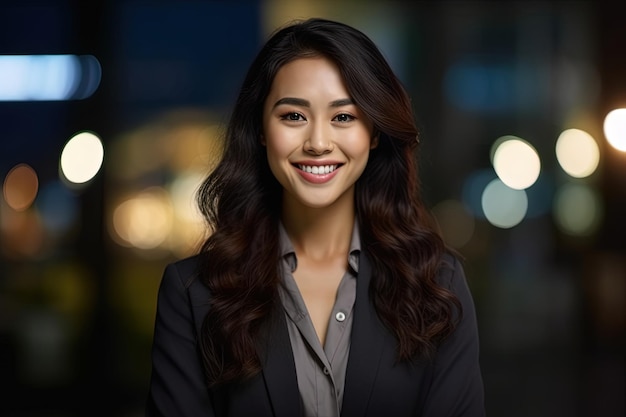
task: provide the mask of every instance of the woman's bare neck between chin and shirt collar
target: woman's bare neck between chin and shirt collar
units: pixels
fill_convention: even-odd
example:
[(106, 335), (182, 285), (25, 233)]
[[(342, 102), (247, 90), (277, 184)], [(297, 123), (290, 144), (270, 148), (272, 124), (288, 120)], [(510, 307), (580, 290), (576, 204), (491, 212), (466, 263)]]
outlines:
[(324, 208), (283, 201), (282, 222), (298, 257), (312, 260), (346, 255), (354, 227), (354, 200)]

